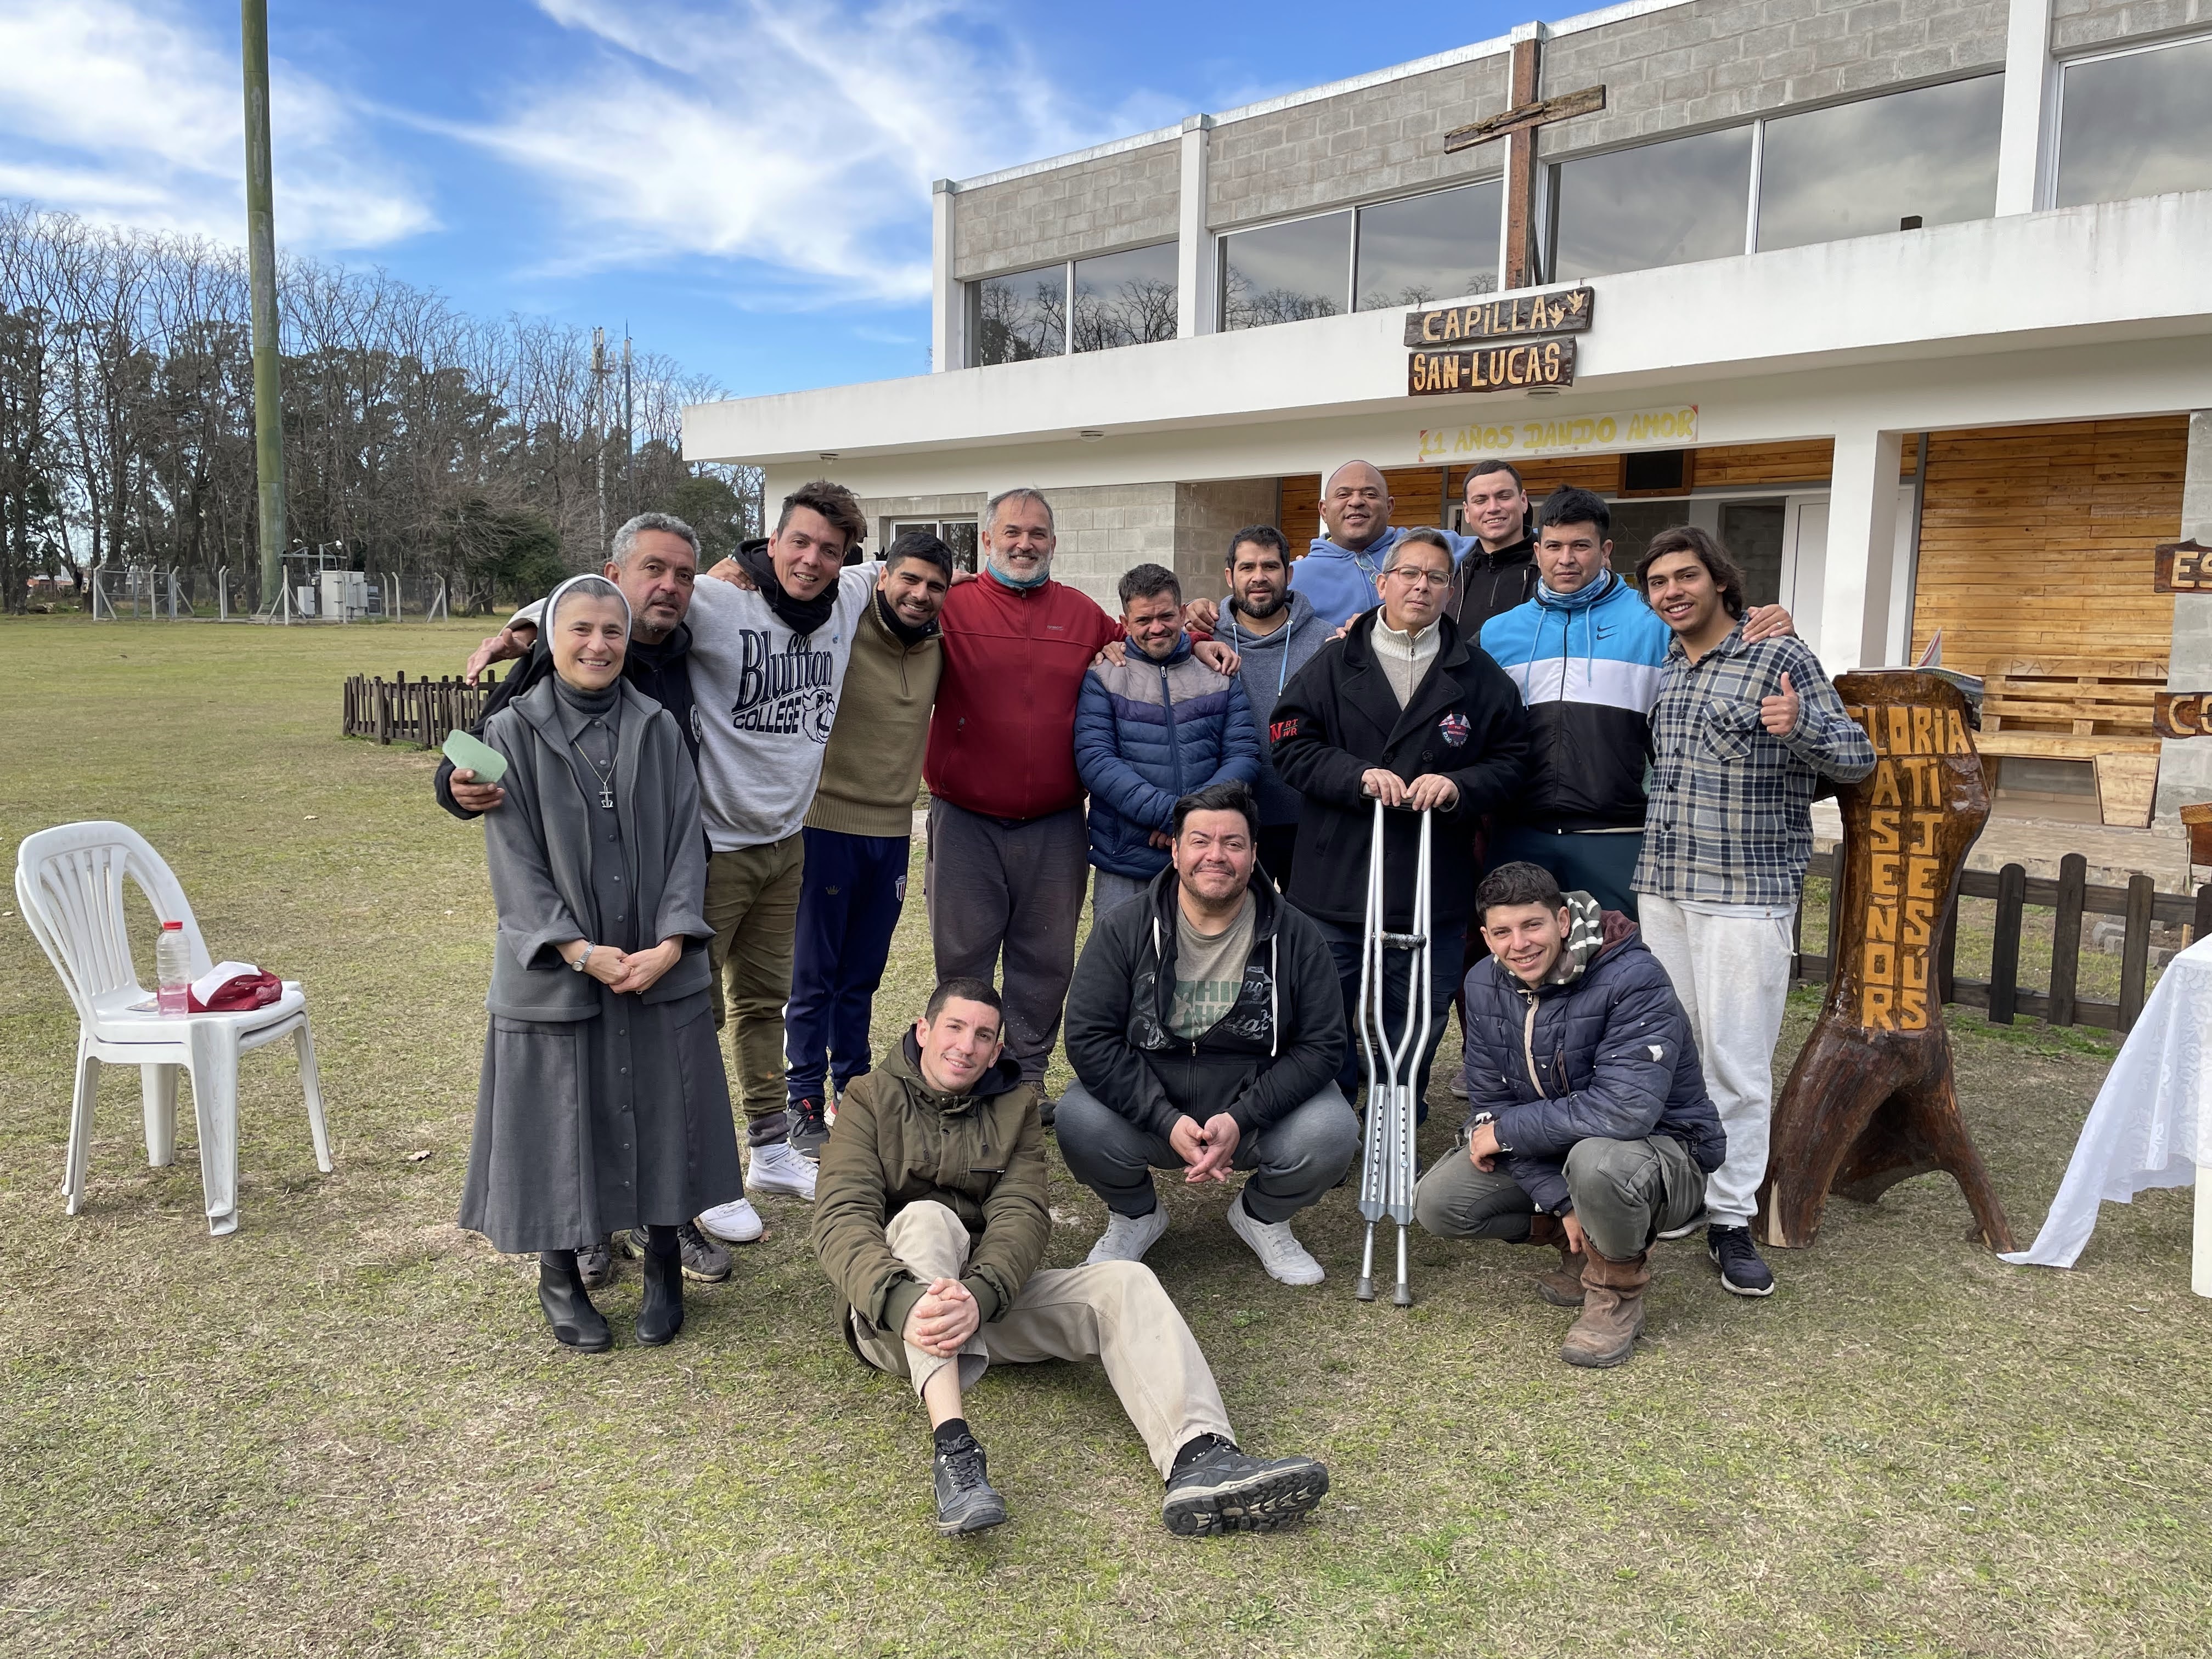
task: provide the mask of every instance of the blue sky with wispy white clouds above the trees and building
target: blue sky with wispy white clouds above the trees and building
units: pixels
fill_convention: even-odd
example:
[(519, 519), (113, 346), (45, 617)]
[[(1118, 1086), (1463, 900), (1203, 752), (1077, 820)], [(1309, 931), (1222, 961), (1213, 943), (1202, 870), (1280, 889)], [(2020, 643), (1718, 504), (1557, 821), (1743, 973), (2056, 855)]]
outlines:
[[(473, 312), (628, 321), (734, 394), (920, 374), (929, 179), (1526, 15), (272, 0), (276, 237)], [(239, 241), (237, 29), (234, 0), (0, 0), (0, 197)]]

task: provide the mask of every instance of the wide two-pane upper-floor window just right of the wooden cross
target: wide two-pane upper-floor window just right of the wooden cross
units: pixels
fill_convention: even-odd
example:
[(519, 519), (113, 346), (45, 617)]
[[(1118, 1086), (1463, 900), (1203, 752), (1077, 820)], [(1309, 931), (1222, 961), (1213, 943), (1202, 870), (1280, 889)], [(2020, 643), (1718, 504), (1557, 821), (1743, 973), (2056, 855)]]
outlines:
[(1986, 219), (2004, 75), (1913, 86), (1557, 161), (1546, 276)]

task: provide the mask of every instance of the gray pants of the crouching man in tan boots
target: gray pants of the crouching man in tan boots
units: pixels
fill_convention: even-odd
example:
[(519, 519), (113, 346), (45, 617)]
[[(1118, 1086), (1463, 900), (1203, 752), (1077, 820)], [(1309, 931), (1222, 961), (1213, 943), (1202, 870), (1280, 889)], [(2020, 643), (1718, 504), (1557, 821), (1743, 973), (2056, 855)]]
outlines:
[[(1705, 1206), (1705, 1172), (1672, 1135), (1588, 1139), (1566, 1155), (1566, 1192), (1590, 1248), (1628, 1261), (1650, 1250), (1657, 1234), (1697, 1217)], [(1535, 1199), (1520, 1181), (1502, 1168), (1475, 1168), (1464, 1135), (1413, 1188), (1413, 1219), (1438, 1239), (1524, 1243), (1533, 1214)]]

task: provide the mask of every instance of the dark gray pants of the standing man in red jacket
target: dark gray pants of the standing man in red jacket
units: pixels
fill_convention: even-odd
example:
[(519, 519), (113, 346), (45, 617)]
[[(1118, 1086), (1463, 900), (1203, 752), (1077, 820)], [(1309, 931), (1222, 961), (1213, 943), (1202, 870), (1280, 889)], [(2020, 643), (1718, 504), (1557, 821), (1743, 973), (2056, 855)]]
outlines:
[(931, 801), (922, 869), (938, 982), (998, 982), (1006, 1046), (1022, 1082), (1042, 1088), (1075, 978), (1075, 925), (1091, 874), (1084, 810), (1002, 823)]

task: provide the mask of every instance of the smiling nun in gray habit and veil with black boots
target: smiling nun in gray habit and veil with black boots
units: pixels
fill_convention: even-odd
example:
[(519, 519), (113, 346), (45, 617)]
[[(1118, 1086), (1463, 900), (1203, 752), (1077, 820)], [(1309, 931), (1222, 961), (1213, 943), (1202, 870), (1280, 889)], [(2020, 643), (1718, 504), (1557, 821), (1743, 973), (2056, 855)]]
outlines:
[(622, 679), (630, 606), (597, 575), (546, 602), (553, 675), (502, 708), (507, 803), (484, 814), (500, 907), (491, 1035), (460, 1225), (538, 1252), (568, 1347), (611, 1347), (575, 1252), (646, 1228), (639, 1343), (684, 1327), (677, 1225), (743, 1192), (714, 1042), (699, 776), (675, 719)]

